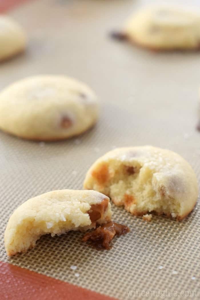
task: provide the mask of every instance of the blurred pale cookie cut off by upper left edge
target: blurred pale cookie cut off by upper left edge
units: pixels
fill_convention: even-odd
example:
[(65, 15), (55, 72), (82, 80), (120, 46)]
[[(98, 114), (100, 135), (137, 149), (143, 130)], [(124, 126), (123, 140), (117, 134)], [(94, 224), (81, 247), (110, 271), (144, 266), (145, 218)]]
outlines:
[(8, 16), (0, 15), (0, 61), (22, 52), (25, 46), (24, 30)]

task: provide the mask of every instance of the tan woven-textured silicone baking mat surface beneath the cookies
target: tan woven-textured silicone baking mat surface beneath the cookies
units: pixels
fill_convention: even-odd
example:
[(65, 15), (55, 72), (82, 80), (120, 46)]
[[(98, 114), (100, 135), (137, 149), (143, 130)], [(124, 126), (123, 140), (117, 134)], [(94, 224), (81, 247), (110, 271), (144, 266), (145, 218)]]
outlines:
[[(79, 232), (43, 236), (35, 249), (9, 259), (4, 250), (5, 226), (16, 207), (50, 190), (81, 189), (88, 167), (114, 147), (171, 149), (192, 164), (200, 179), (200, 133), (195, 130), (200, 52), (154, 53), (108, 37), (145, 2), (150, 1), (41, 0), (9, 12), (27, 30), (29, 46), (0, 65), (0, 88), (33, 74), (67, 74), (96, 91), (102, 111), (93, 129), (58, 143), (0, 132), (0, 260), (122, 300), (144, 298), (142, 291), (157, 292), (148, 298), (160, 299), (164, 290), (163, 298), (199, 299), (199, 203), (181, 223), (156, 216), (147, 223), (113, 205), (115, 221), (131, 232), (116, 239), (110, 251), (89, 248)], [(167, 294), (176, 291), (177, 297)]]

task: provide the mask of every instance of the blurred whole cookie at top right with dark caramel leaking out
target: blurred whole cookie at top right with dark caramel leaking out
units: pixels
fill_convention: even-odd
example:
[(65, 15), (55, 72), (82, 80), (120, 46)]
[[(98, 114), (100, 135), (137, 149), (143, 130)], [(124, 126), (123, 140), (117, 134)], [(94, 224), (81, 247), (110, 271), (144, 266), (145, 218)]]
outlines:
[(142, 8), (127, 21), (124, 33), (151, 49), (199, 49), (200, 13), (170, 5)]

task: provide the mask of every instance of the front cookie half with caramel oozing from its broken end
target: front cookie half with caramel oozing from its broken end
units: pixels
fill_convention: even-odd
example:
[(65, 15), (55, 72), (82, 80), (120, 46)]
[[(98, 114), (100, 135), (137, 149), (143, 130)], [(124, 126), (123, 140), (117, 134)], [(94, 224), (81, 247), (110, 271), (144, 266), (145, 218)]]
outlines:
[(11, 215), (4, 235), (8, 256), (35, 247), (41, 235), (86, 231), (111, 220), (109, 198), (94, 190), (55, 190), (27, 200)]

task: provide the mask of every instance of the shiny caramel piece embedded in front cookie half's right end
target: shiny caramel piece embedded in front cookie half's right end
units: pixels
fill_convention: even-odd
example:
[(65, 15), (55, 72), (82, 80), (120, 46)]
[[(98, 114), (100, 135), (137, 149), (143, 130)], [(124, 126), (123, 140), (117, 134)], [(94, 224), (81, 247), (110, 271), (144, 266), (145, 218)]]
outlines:
[(103, 218), (105, 212), (108, 209), (109, 199), (105, 198), (100, 203), (92, 204), (90, 210), (88, 210), (88, 214), (90, 216), (91, 222), (95, 222), (101, 218)]

